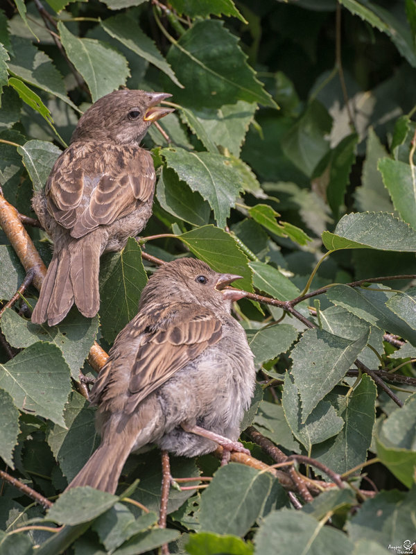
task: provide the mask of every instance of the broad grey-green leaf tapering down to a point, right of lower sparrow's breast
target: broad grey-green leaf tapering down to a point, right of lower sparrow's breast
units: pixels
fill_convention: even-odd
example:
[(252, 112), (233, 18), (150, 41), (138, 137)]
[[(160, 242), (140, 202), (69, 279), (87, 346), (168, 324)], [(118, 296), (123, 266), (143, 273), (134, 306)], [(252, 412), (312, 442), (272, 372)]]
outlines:
[(370, 332), (356, 341), (343, 339), (324, 330), (306, 330), (291, 352), (291, 375), (300, 393), (302, 420), (338, 384), (367, 345)]

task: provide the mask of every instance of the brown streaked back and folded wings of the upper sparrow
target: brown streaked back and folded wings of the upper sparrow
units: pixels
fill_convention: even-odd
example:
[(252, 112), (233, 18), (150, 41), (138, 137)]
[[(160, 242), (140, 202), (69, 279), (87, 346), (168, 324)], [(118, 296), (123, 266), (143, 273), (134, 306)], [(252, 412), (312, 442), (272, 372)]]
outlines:
[(130, 214), (154, 185), (153, 159), (142, 148), (75, 143), (55, 163), (45, 192), (49, 212), (79, 238)]

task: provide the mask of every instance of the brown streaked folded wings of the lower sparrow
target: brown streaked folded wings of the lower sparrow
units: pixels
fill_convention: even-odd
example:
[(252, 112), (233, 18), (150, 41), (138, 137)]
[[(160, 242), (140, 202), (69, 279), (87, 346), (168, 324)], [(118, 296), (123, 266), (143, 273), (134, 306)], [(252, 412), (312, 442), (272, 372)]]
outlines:
[[(155, 323), (161, 323), (155, 329)], [(98, 377), (90, 400), (112, 398), (112, 388), (118, 382), (117, 373), (125, 372), (119, 368), (117, 360), (125, 352), (125, 344), (131, 348), (133, 338), (140, 338), (133, 358), (128, 391), (130, 397), (124, 410), (133, 412), (139, 402), (183, 368), (189, 361), (200, 355), (209, 345), (214, 345), (222, 336), (222, 326), (213, 312), (197, 305), (171, 305), (153, 314), (137, 314), (119, 334), (110, 359)], [(123, 348), (119, 348), (123, 343)]]

